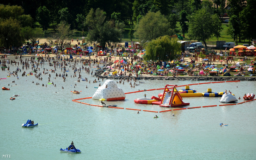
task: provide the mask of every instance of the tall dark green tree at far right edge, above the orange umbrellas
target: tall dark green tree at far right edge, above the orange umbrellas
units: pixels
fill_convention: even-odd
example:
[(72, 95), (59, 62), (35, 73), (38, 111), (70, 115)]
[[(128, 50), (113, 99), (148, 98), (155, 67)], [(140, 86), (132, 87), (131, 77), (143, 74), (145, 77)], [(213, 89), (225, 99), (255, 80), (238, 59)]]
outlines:
[(252, 26), (256, 26), (256, 8), (255, 8), (256, 0), (247, 0), (247, 5), (243, 9), (243, 11), (239, 14), (239, 19), (241, 20), (241, 27), (242, 38), (248, 39), (249, 44), (251, 43), (252, 39), (256, 37), (256, 30)]

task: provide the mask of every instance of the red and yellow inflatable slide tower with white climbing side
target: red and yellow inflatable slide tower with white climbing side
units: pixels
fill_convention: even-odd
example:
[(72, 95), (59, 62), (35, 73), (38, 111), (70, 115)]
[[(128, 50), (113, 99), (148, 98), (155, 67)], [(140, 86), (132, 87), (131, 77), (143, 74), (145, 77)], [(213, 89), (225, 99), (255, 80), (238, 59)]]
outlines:
[(161, 107), (177, 107), (189, 105), (189, 103), (185, 103), (182, 101), (182, 98), (175, 88), (177, 85), (169, 85), (167, 84), (164, 88), (163, 97), (161, 99)]

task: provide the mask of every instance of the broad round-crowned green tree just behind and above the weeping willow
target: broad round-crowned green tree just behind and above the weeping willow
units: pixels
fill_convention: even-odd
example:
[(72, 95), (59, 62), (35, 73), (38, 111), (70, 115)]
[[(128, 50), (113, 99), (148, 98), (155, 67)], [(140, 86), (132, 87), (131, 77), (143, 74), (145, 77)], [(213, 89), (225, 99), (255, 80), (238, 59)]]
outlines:
[(139, 37), (141, 43), (154, 40), (160, 36), (173, 35), (168, 20), (158, 11), (148, 12), (135, 26), (135, 36)]

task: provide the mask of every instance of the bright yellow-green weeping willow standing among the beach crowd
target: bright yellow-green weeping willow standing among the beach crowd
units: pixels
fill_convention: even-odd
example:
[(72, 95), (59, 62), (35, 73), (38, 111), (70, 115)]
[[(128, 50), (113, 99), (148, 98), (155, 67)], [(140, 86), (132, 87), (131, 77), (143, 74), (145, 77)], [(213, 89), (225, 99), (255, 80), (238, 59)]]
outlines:
[(181, 51), (181, 44), (176, 37), (158, 37), (144, 44), (146, 49), (145, 60), (168, 61), (174, 60)]

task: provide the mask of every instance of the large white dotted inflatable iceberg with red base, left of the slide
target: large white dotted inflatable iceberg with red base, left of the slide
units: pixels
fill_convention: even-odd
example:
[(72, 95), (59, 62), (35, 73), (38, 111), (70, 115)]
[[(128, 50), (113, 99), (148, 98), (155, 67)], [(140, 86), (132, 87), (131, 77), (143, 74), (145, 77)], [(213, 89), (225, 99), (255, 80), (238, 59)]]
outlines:
[[(107, 86), (107, 88), (106, 88)], [(97, 91), (94, 93), (93, 99), (104, 98), (107, 101), (111, 100), (124, 100), (124, 91), (117, 86), (112, 80), (107, 80), (102, 86), (99, 86)]]

